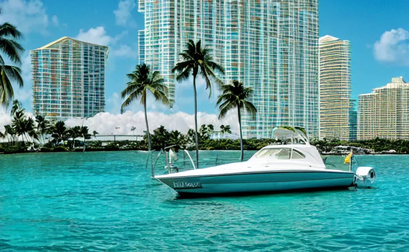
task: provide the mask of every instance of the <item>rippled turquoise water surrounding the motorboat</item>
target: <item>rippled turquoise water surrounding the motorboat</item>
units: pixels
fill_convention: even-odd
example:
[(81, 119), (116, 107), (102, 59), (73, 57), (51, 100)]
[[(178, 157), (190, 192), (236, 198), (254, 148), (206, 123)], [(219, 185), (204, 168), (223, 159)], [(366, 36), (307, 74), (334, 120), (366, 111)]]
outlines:
[(195, 199), (151, 180), (146, 156), (0, 155), (0, 251), (409, 251), (409, 156), (358, 156), (373, 189)]

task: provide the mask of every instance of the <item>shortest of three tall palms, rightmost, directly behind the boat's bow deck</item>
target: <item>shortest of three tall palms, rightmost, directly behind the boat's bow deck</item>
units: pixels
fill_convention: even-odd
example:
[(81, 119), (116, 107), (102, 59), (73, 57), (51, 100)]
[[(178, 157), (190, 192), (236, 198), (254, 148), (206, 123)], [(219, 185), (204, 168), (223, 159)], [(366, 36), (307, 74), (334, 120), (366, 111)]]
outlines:
[(243, 161), (243, 135), (241, 133), (241, 111), (245, 109), (253, 117), (256, 116), (257, 108), (248, 101), (250, 95), (253, 94), (252, 88), (244, 87), (243, 83), (234, 80), (231, 84), (226, 84), (221, 87), (222, 94), (217, 99), (219, 105), (219, 119), (223, 118), (226, 113), (234, 108), (237, 108), (238, 125), (240, 128), (240, 161)]

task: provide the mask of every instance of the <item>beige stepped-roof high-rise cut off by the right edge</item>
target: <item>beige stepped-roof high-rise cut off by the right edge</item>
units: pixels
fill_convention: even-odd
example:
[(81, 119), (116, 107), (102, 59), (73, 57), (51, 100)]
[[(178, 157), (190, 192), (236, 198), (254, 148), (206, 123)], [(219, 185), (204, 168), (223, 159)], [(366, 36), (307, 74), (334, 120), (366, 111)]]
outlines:
[(403, 77), (358, 97), (358, 140), (409, 138), (409, 84)]

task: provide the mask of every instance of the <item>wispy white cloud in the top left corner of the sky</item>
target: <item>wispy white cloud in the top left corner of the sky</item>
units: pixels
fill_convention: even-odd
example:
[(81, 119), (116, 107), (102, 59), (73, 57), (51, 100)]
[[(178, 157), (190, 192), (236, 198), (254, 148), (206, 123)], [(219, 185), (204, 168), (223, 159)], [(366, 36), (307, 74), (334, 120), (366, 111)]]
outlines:
[(47, 34), (50, 20), (40, 0), (5, 0), (1, 2), (0, 15), (0, 23), (4, 22), (15, 25), (23, 33)]

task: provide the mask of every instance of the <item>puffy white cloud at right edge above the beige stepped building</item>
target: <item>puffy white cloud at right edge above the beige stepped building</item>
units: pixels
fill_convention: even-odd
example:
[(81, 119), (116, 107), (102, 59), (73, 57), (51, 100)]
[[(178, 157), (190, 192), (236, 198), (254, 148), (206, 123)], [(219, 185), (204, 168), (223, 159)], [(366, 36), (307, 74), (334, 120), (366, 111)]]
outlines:
[(374, 44), (374, 56), (380, 62), (409, 65), (409, 32), (402, 28), (383, 32)]

